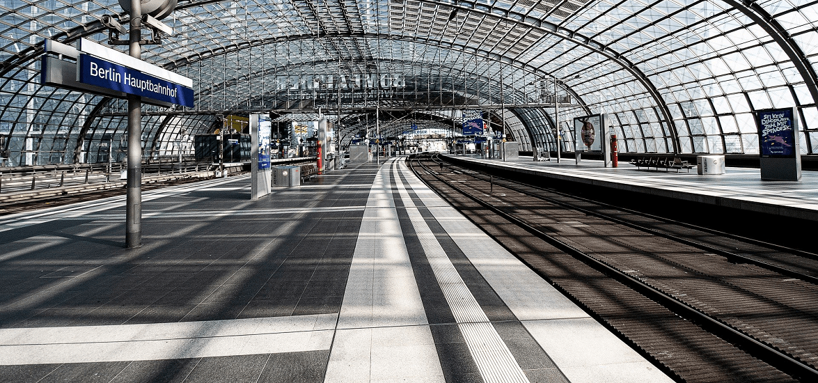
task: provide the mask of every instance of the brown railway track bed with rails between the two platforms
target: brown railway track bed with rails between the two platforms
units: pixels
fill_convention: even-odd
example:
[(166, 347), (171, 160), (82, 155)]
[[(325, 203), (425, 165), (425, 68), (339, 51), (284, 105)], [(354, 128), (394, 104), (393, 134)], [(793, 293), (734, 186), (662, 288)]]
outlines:
[(410, 164), (677, 381), (818, 381), (816, 255), (430, 157)]

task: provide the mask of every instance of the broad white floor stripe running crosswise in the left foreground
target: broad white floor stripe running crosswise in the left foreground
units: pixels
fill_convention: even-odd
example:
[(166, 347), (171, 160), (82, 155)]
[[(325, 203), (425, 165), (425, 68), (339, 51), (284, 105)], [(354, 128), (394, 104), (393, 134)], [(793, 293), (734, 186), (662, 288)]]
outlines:
[(330, 349), (337, 315), (0, 330), (0, 365), (118, 362)]

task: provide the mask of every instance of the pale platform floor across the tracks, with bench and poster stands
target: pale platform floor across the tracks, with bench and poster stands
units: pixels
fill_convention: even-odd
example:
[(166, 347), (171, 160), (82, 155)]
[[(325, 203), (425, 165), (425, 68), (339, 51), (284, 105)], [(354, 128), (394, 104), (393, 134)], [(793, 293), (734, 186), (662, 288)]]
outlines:
[(684, 169), (657, 171), (637, 169), (627, 162), (620, 162), (617, 168), (606, 168), (600, 160), (582, 160), (576, 164), (573, 158), (564, 158), (558, 163), (555, 158), (533, 161), (530, 156), (506, 161), (487, 160), (477, 155), (452, 156), (597, 186), (818, 221), (818, 172), (814, 171), (803, 171), (800, 181), (764, 181), (759, 169), (748, 168), (728, 167), (724, 174), (700, 175), (696, 168), (690, 172)]

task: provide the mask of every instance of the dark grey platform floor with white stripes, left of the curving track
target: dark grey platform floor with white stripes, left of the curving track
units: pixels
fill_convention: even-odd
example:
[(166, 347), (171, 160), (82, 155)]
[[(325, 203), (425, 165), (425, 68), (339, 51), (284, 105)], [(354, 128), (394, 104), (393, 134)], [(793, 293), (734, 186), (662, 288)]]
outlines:
[(0, 218), (0, 382), (669, 382), (402, 160)]

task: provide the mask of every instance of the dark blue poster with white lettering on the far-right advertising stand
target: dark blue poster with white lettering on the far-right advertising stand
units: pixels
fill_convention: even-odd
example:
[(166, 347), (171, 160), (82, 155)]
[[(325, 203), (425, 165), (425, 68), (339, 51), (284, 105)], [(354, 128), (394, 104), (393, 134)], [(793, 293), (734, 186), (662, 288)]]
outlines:
[(759, 154), (795, 157), (795, 115), (792, 108), (761, 110), (756, 114)]

